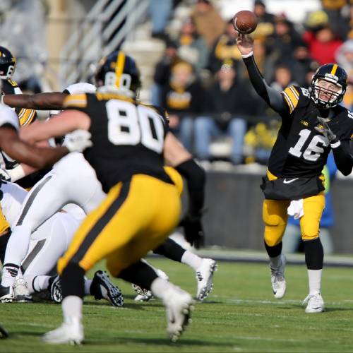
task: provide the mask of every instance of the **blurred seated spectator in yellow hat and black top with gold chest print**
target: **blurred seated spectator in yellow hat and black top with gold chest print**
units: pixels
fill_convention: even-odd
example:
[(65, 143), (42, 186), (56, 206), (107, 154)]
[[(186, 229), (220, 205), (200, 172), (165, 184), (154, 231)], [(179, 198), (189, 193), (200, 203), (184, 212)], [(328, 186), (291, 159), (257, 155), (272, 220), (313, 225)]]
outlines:
[(172, 67), (169, 84), (162, 92), (162, 107), (169, 112), (169, 127), (181, 143), (192, 150), (193, 121), (201, 112), (203, 88), (193, 75), (191, 64), (179, 61)]

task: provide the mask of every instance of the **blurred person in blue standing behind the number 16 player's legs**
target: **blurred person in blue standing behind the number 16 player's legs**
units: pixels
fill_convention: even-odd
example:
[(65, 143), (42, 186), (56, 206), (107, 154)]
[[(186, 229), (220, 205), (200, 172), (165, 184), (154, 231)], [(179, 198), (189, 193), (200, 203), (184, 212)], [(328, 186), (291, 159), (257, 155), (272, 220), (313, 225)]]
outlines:
[[(325, 255), (333, 253), (333, 241), (330, 228), (334, 225), (333, 207), (331, 201), (330, 184), (335, 180), (337, 167), (333, 158), (333, 153), (328, 155), (328, 162), (323, 169), (325, 176), (325, 209), (320, 222), (320, 239), (323, 244)], [(289, 217), (285, 235), (282, 239), (283, 253), (295, 253), (301, 247), (300, 219), (294, 220)]]

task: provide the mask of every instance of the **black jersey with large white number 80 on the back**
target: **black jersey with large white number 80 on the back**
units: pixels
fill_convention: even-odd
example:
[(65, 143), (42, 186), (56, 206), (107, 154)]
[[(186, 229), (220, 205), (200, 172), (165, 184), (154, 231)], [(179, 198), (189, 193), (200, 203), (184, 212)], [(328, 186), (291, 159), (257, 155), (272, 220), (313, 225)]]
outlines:
[(163, 169), (168, 123), (157, 108), (108, 93), (70, 95), (64, 107), (90, 116), (93, 146), (84, 155), (105, 192), (133, 174), (172, 183)]

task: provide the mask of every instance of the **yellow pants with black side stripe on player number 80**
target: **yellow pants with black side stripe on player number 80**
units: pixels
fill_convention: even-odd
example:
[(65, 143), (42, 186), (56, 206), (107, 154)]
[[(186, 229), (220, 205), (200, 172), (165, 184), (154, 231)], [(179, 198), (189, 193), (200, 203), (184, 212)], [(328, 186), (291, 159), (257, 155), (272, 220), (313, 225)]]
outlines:
[(102, 258), (117, 276), (148, 251), (160, 245), (180, 216), (176, 186), (136, 174), (110, 189), (101, 205), (86, 217), (68, 250), (58, 262), (62, 273), (68, 262), (89, 270)]

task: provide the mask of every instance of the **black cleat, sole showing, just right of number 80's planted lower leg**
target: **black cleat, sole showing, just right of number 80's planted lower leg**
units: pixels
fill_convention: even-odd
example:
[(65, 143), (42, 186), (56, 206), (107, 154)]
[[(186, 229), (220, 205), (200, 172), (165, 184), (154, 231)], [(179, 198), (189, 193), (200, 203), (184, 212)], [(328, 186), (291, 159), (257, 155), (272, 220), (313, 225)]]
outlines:
[(107, 299), (112, 306), (124, 305), (124, 297), (121, 294), (121, 290), (109, 280), (109, 276), (104, 271), (99, 270), (95, 273), (90, 285), (90, 293), (97, 300)]

